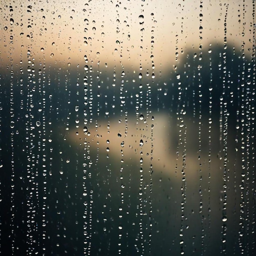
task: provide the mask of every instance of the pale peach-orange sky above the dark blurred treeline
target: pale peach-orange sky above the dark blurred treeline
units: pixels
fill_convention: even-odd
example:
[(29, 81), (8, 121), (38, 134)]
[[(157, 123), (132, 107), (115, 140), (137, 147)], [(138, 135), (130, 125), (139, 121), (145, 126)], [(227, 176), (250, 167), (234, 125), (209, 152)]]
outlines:
[(224, 47), (225, 23), (227, 43), (240, 50), (244, 42), (245, 54), (252, 54), (250, 1), (243, 7), (242, 1), (225, 1), (227, 5), (209, 0), (202, 8), (200, 1), (20, 2), (3, 2), (0, 9), (3, 67), (11, 58), (14, 64), (26, 62), (29, 50), (35, 63), (45, 59), (47, 63), (85, 65), (86, 55), (89, 63), (115, 63), (134, 70), (140, 63), (150, 68), (153, 55), (155, 66), (165, 69), (175, 63), (176, 52), (180, 58), (182, 51), (198, 51), (200, 44), (203, 49), (216, 43)]

